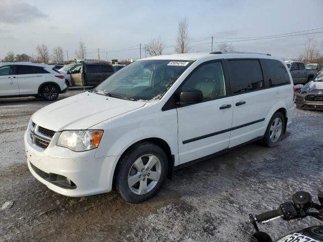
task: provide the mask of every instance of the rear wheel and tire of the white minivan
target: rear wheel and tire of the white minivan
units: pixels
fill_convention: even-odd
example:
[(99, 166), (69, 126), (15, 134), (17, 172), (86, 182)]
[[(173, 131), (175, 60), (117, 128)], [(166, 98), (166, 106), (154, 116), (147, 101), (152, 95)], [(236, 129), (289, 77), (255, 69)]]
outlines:
[(283, 113), (276, 112), (266, 129), (263, 141), (268, 147), (275, 147), (279, 144), (284, 135), (285, 117)]

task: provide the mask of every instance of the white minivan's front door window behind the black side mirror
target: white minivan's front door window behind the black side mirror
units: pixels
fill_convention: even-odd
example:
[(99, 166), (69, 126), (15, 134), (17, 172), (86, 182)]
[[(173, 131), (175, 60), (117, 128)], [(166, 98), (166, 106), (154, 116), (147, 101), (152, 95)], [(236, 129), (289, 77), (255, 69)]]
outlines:
[(226, 95), (225, 79), (221, 62), (199, 67), (182, 86), (182, 91), (197, 89), (203, 93), (203, 100), (212, 100)]

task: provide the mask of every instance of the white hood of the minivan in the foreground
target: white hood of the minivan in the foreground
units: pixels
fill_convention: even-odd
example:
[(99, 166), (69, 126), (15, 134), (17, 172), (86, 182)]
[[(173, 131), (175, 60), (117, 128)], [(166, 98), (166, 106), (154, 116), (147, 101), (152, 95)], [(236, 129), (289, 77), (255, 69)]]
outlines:
[(36, 111), (31, 118), (37, 125), (56, 132), (86, 130), (106, 119), (144, 105), (144, 102), (128, 101), (85, 92), (49, 104)]

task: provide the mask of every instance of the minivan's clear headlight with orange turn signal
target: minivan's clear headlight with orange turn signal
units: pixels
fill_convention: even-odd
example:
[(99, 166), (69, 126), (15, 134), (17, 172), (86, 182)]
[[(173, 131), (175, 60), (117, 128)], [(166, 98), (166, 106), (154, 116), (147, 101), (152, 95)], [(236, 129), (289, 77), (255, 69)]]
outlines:
[(98, 147), (102, 135), (102, 130), (63, 131), (56, 145), (73, 151), (92, 150)]

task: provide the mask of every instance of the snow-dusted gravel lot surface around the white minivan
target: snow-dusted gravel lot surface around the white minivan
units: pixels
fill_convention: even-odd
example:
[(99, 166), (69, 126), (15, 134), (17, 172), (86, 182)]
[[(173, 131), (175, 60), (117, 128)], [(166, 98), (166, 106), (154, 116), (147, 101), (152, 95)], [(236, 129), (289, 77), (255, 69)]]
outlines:
[[(249, 213), (277, 208), (299, 190), (316, 197), (323, 185), (323, 112), (296, 109), (278, 147), (253, 143), (178, 170), (143, 204), (115, 193), (64, 197), (39, 183), (26, 164), (24, 131), (31, 114), (47, 104), (0, 99), (0, 207), (14, 202), (0, 208), (1, 241), (248, 241)], [(277, 239), (315, 223), (275, 220), (260, 229)]]

